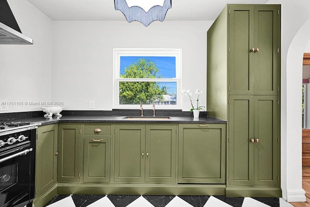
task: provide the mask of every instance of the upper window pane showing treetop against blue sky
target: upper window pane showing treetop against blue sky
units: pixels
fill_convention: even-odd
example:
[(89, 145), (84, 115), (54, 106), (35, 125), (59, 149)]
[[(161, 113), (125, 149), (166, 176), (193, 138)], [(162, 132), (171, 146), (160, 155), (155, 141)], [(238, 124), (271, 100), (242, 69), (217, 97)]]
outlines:
[(120, 62), (121, 78), (176, 78), (175, 57), (121, 56)]

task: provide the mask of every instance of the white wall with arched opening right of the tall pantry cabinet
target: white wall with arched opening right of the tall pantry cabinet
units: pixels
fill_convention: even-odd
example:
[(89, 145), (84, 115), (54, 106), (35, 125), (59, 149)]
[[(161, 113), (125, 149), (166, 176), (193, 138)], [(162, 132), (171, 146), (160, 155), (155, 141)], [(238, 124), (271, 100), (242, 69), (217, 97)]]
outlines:
[[(310, 40), (309, 0), (269, 0), (282, 4), (281, 188), (289, 202), (306, 201), (301, 167), (302, 59)], [(308, 23), (309, 22), (309, 23)]]

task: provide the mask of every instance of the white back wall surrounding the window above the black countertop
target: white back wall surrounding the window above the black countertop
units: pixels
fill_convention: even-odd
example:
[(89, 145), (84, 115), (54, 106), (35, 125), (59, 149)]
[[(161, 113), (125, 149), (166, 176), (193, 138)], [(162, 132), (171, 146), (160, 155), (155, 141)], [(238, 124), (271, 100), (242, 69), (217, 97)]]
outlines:
[[(182, 48), (182, 88), (206, 105), (206, 34), (213, 21), (55, 21), (52, 99), (66, 110), (112, 110), (113, 48)], [(181, 97), (182, 98), (182, 97)], [(182, 98), (189, 111), (188, 98)]]

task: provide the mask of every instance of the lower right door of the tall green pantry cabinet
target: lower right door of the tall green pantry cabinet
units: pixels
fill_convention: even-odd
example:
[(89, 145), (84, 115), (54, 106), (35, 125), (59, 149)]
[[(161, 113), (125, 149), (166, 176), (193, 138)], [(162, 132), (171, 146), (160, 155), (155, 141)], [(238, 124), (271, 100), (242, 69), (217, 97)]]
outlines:
[(255, 96), (254, 185), (279, 185), (278, 121), (278, 96)]

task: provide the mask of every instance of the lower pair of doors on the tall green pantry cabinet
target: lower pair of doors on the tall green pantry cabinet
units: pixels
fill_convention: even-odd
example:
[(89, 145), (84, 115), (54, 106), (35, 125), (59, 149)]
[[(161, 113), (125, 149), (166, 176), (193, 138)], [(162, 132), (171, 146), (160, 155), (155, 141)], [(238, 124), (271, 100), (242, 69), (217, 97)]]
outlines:
[(230, 96), (229, 185), (278, 186), (278, 96)]

